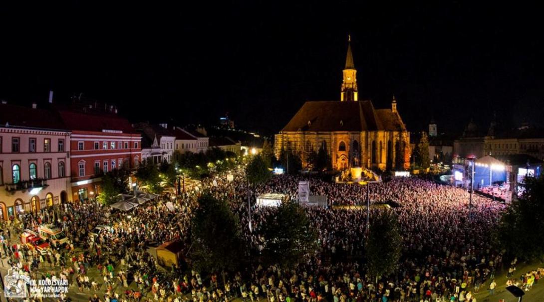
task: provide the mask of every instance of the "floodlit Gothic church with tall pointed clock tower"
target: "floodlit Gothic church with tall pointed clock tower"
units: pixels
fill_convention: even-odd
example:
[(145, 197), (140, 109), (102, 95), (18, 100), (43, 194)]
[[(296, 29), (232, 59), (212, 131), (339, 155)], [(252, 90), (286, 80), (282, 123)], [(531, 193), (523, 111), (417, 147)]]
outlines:
[(350, 40), (343, 70), (340, 100), (306, 102), (275, 135), (274, 152), (300, 155), (306, 166), (319, 148), (330, 156), (332, 168), (407, 169), (410, 167), (410, 135), (397, 111), (375, 109), (372, 101), (359, 100)]

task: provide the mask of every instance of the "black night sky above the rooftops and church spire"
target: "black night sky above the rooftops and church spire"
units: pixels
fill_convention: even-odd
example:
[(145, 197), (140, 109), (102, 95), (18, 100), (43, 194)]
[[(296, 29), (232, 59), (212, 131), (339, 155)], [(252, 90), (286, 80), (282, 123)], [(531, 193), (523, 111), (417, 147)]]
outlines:
[[(305, 100), (338, 100), (351, 33), (360, 99), (410, 131), (471, 119), (542, 125), (541, 10), (510, 2), (98, 1), (0, 4), (0, 98), (115, 102), (131, 121), (217, 121), (276, 133)], [(314, 1), (315, 2), (315, 1)], [(331, 2), (332, 3), (332, 2)], [(113, 6), (112, 6), (113, 5)]]

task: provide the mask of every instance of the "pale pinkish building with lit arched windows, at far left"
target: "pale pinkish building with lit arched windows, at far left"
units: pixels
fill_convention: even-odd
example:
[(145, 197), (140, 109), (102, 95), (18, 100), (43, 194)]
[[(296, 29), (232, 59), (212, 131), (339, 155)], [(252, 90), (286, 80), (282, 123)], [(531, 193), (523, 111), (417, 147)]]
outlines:
[[(46, 110), (2, 104), (0, 111), (0, 219), (71, 201), (70, 131), (36, 127), (33, 117), (51, 116)], [(28, 119), (10, 124), (7, 114)]]

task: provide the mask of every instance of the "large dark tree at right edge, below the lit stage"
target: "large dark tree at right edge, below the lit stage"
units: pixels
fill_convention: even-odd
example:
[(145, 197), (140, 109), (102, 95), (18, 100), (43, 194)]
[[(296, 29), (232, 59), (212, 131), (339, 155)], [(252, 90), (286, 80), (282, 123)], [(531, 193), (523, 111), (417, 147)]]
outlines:
[(544, 257), (544, 176), (525, 178), (524, 192), (501, 218), (497, 237), (509, 255), (525, 260)]

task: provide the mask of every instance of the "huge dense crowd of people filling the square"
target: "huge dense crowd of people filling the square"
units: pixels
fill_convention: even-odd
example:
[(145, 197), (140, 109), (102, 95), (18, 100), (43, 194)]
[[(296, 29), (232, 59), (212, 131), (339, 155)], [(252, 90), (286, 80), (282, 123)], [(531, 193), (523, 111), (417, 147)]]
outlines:
[[(232, 174), (228, 180), (226, 174)], [(490, 288), (503, 266), (503, 251), (491, 246), (490, 234), (504, 205), (475, 196), (469, 219), (468, 193), (461, 188), (437, 185), (417, 178), (393, 178), (367, 187), (310, 179), (312, 195), (327, 197), (329, 207), (305, 207), (317, 230), (318, 252), (302, 265), (282, 269), (253, 267), (226, 275), (197, 272), (188, 264), (161, 267), (153, 247), (166, 241), (181, 241), (182, 255), (191, 247), (190, 220), (203, 192), (225, 199), (239, 216), (243, 238), (251, 250), (266, 242), (256, 236), (272, 207), (253, 204), (249, 229), (250, 200), (261, 193), (287, 194), (298, 198), (298, 181), (307, 178), (281, 175), (268, 183), (248, 186), (243, 168), (205, 179), (200, 190), (188, 190), (181, 199), (158, 198), (129, 212), (112, 211), (96, 202), (62, 204), (39, 213), (27, 213), (3, 226), (0, 252), (6, 265), (33, 279), (66, 279), (72, 288), (89, 295), (92, 302), (116, 301), (244, 301), (266, 298), (270, 302), (331, 301), (465, 301), (475, 302), (475, 293)], [(367, 193), (369, 192), (369, 193)], [(397, 273), (367, 274), (361, 261), (366, 234), (366, 209), (338, 209), (370, 198), (372, 204), (394, 202), (403, 241)], [(182, 202), (183, 200), (183, 202)], [(370, 211), (370, 219), (381, 211)], [(24, 229), (57, 225), (70, 238), (64, 246), (52, 244), (45, 255), (18, 241)], [(106, 225), (92, 231), (96, 225)], [(201, 275), (201, 273), (203, 275)], [(542, 270), (523, 274), (511, 282), (530, 288)], [(99, 294), (100, 293), (100, 294)], [(40, 295), (33, 298), (41, 301)], [(60, 301), (70, 300), (62, 294)]]

